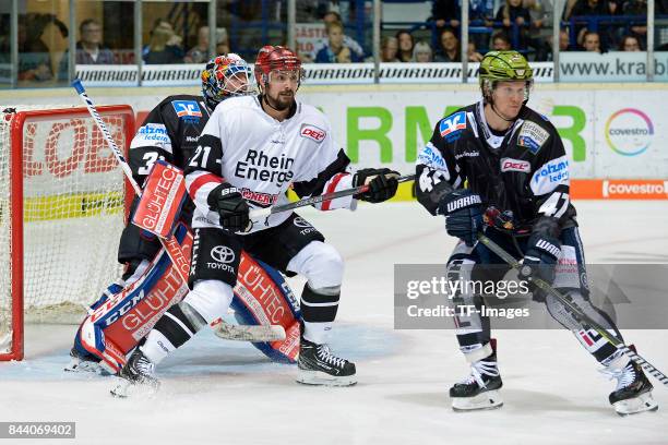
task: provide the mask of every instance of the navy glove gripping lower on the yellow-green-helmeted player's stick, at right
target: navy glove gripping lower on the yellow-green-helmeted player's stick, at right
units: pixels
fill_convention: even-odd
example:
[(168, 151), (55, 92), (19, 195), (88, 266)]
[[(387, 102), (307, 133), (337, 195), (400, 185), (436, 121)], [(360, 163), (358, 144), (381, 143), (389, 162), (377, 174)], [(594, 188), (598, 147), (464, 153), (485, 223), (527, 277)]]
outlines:
[(561, 243), (549, 234), (533, 233), (526, 244), (520, 278), (530, 281), (540, 278), (551, 285), (554, 281), (554, 268), (561, 256)]

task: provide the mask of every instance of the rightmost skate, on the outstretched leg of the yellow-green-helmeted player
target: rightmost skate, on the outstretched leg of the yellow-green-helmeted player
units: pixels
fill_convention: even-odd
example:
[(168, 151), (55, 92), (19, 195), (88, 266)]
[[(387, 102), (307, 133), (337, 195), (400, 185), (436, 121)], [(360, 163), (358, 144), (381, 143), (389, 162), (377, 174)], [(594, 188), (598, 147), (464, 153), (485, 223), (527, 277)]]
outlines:
[(617, 378), (617, 388), (610, 393), (609, 400), (619, 416), (658, 409), (658, 404), (652, 397), (652, 383), (640, 364), (630, 360), (624, 368), (608, 366), (601, 372)]

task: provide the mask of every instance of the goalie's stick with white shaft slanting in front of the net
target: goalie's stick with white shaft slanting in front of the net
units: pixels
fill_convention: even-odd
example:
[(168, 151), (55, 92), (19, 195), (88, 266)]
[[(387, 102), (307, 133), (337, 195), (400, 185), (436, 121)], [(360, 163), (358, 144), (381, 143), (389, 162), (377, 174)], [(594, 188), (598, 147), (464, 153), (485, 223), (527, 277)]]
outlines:
[[(128, 165), (128, 160), (123, 156), (122, 151), (116, 144), (116, 141), (114, 141), (114, 137), (111, 136), (111, 133), (109, 133), (109, 130), (107, 129), (107, 125), (105, 124), (105, 121), (102, 119), (102, 116), (99, 116), (99, 112), (97, 112), (97, 108), (95, 107), (95, 104), (93, 104), (93, 100), (91, 100), (91, 98), (86, 94), (86, 89), (84, 88), (84, 86), (82, 85), (79, 79), (75, 79), (72, 82), (72, 86), (74, 87), (74, 89), (76, 89), (79, 97), (81, 97), (86, 108), (88, 109), (91, 117), (97, 124), (97, 128), (99, 129), (100, 133), (103, 134), (103, 137), (107, 142), (107, 145), (114, 153), (116, 160), (118, 161), (121, 169), (123, 170), (123, 173), (126, 175), (126, 178), (130, 182), (130, 185), (132, 185), (134, 193), (136, 193), (138, 196), (141, 196), (142, 189), (139, 187), (134, 178), (132, 178), (132, 170), (130, 169), (130, 166)], [(183, 261), (184, 258), (183, 252), (179, 243), (176, 241), (176, 238), (174, 237), (174, 234), (170, 236), (168, 239), (163, 239), (159, 237), (158, 239), (160, 240), (160, 243), (163, 244), (163, 246), (167, 251), (167, 254), (171, 258), (171, 262), (175, 265), (174, 268), (177, 270), (181, 279), (188, 282), (189, 265), (188, 265), (188, 262)], [(225, 326), (225, 329), (220, 330), (223, 326)], [(285, 338), (285, 330), (283, 330), (282, 326), (279, 327), (281, 327), (279, 329), (281, 332), (277, 332), (278, 329), (272, 329), (272, 326), (248, 325), (248, 326), (242, 326), (238, 328), (236, 325), (230, 325), (230, 324), (223, 322), (216, 328), (216, 335), (218, 337), (226, 338), (229, 340), (246, 341), (250, 339), (252, 341), (276, 341), (276, 340), (283, 340)]]

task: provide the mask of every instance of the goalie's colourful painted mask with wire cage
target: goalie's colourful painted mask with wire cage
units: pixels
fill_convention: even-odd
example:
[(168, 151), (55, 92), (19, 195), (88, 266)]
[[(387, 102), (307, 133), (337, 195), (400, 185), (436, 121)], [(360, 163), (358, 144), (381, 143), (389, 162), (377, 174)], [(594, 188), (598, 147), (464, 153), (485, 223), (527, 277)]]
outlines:
[(202, 71), (202, 94), (211, 110), (228, 97), (250, 93), (251, 71), (238, 55), (218, 56), (210, 60)]

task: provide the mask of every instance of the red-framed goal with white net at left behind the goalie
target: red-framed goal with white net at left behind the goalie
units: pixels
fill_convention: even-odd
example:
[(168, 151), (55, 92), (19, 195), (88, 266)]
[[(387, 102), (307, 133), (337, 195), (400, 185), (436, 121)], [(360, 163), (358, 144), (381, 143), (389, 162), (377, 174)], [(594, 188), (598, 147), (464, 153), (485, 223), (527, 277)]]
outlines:
[[(85, 107), (1, 109), (0, 360), (21, 360), (24, 323), (79, 323), (120, 277), (124, 177)], [(132, 108), (98, 111), (128, 147)]]

